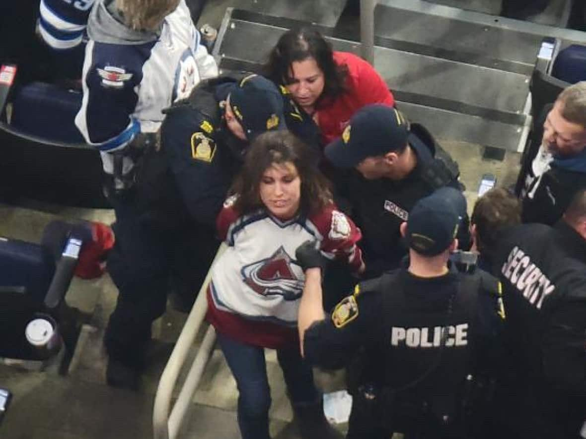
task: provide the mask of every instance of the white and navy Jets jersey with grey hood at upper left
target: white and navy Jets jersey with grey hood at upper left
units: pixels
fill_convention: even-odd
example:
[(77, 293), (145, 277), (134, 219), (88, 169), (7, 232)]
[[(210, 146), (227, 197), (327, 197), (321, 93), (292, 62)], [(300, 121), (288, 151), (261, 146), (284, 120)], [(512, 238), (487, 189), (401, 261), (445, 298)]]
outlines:
[[(185, 0), (156, 34), (127, 28), (97, 0), (87, 33), (83, 101), (75, 122), (86, 142), (100, 150), (105, 172), (112, 173), (110, 153), (139, 132), (158, 131), (162, 109), (188, 97), (200, 80), (217, 76), (217, 66), (200, 44)], [(125, 157), (123, 172), (131, 167)]]

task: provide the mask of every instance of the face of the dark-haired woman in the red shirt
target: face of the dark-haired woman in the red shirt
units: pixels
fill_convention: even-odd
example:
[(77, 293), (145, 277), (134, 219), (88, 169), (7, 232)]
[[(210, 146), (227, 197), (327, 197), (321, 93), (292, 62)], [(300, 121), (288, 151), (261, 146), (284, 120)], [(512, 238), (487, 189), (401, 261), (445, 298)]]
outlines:
[(315, 58), (309, 57), (303, 61), (291, 63), (291, 78), (293, 81), (287, 85), (287, 89), (293, 95), (295, 102), (304, 109), (313, 109), (325, 84), (323, 71)]

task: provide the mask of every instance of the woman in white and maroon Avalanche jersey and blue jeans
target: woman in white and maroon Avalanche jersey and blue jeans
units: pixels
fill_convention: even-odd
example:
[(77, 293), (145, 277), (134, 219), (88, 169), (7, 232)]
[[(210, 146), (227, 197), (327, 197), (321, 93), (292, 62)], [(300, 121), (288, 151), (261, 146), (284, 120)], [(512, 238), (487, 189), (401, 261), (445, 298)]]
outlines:
[(346, 260), (359, 273), (360, 230), (336, 210), (311, 150), (287, 131), (258, 136), (234, 194), (217, 219), (228, 248), (212, 268), (207, 318), (236, 378), (241, 434), (270, 437), (264, 348), (273, 348), (302, 437), (336, 437), (323, 417), (311, 367), (299, 354), (295, 331), (304, 273), (295, 249), (316, 240), (324, 255)]

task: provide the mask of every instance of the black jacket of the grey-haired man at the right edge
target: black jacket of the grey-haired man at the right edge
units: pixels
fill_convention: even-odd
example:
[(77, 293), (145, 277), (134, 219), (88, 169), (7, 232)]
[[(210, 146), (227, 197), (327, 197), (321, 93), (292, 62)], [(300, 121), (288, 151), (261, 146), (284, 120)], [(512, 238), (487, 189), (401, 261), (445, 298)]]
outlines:
[[(553, 104), (546, 105), (534, 124), (539, 131), (534, 133), (533, 138), (539, 139), (539, 142), (543, 138), (543, 124), (551, 108)], [(522, 181), (517, 183), (522, 200), (521, 219), (523, 222), (553, 225), (561, 218), (575, 193), (586, 188), (586, 156), (581, 155), (584, 163), (578, 167), (568, 163), (568, 160), (554, 160), (550, 163), (550, 169), (540, 175), (533, 170), (533, 160), (538, 154), (539, 148), (535, 148), (527, 156), (520, 177)]]

